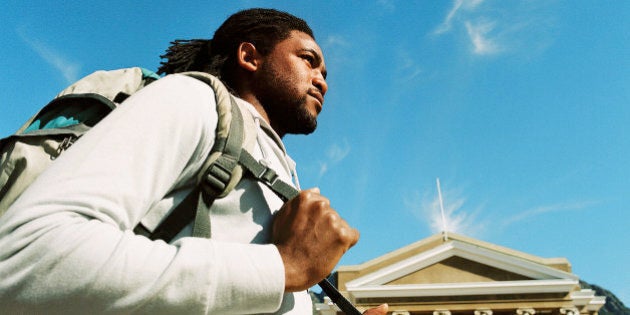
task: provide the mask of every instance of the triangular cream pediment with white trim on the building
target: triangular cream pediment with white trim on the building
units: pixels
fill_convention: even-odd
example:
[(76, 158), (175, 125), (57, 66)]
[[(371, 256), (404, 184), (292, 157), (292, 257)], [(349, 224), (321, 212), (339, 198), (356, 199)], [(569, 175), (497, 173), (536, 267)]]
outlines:
[(578, 277), (522, 257), (459, 240), (345, 283), (355, 297), (570, 292)]

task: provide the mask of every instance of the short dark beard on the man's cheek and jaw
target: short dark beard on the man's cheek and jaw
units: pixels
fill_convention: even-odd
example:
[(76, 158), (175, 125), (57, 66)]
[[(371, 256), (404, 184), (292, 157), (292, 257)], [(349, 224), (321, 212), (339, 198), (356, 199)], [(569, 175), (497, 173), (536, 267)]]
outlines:
[(315, 131), (317, 116), (307, 108), (308, 91), (300, 91), (294, 78), (263, 64), (257, 82), (258, 99), (278, 134), (306, 135)]

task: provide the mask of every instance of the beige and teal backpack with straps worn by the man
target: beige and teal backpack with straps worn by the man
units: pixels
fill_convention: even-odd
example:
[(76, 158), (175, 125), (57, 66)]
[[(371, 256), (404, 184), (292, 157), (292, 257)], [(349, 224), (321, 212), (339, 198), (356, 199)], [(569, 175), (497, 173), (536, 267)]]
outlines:
[[(210, 206), (245, 175), (267, 185), (284, 202), (299, 193), (249, 153), (257, 127), (223, 83), (204, 72), (181, 74), (212, 87), (218, 123), (214, 146), (197, 173), (193, 191), (156, 228), (148, 229), (142, 223), (134, 228), (136, 234), (166, 242), (193, 221), (193, 236), (210, 237)], [(0, 216), (63, 151), (125, 99), (159, 78), (139, 67), (96, 71), (61, 91), (13, 135), (0, 139)], [(327, 279), (319, 286), (346, 314), (360, 314)]]

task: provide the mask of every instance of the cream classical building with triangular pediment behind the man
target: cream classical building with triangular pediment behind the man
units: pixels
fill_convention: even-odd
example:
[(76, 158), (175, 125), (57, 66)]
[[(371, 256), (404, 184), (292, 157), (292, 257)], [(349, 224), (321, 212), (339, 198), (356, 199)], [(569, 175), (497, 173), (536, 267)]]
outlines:
[[(565, 258), (540, 258), (456, 234), (437, 234), (354, 266), (334, 281), (360, 310), (396, 315), (597, 314), (605, 297), (582, 290)], [(319, 314), (336, 314), (328, 300)]]

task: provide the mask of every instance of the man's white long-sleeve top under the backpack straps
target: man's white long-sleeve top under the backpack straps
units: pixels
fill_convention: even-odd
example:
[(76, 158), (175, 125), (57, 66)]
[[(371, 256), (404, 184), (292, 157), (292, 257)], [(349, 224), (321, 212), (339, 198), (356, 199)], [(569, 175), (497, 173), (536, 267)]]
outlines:
[[(283, 292), (269, 244), (282, 201), (260, 183), (245, 179), (215, 201), (211, 239), (187, 237), (190, 228), (172, 244), (131, 232), (143, 218), (156, 225), (193, 187), (215, 105), (206, 84), (168, 76), (62, 154), (0, 218), (0, 313), (311, 313), (306, 292)], [(259, 129), (252, 154), (291, 182), (276, 135)]]

